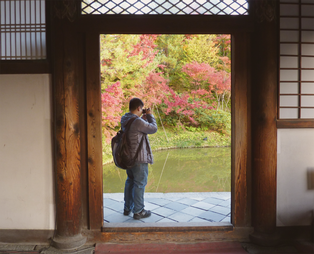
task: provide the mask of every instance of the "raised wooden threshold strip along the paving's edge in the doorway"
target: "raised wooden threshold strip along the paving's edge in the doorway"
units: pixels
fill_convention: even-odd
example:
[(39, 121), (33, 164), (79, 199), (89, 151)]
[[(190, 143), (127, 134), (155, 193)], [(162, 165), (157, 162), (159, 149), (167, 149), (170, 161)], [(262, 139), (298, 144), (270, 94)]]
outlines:
[(102, 232), (216, 232), (233, 231), (230, 222), (154, 222), (154, 223), (104, 223)]

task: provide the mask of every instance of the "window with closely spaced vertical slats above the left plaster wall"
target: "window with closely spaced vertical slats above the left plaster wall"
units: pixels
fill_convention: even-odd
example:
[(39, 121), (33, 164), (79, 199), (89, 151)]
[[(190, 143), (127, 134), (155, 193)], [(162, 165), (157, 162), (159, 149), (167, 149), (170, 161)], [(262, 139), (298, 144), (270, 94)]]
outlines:
[(0, 59), (46, 59), (45, 0), (1, 0), (0, 11)]

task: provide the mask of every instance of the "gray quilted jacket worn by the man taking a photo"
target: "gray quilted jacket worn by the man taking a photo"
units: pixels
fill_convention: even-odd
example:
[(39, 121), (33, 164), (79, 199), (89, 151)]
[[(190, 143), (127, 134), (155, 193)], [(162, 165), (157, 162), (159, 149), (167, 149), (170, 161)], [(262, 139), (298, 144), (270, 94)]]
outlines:
[(154, 134), (157, 132), (156, 119), (152, 114), (147, 114), (147, 121), (145, 121), (143, 118), (127, 112), (124, 116), (121, 117), (122, 131), (125, 130), (128, 120), (133, 117), (137, 117), (137, 119), (133, 121), (129, 131), (127, 132), (127, 143), (129, 145), (130, 155), (132, 158), (134, 158), (136, 150), (138, 149), (138, 145), (144, 135), (142, 147), (138, 152), (138, 156), (135, 159), (135, 162), (153, 164), (154, 158), (147, 134)]

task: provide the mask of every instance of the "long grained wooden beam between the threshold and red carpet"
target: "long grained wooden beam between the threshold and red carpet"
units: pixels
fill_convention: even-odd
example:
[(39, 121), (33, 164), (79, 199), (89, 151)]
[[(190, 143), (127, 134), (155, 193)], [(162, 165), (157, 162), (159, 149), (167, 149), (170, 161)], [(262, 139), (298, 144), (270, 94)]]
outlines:
[(84, 230), (87, 244), (95, 243), (196, 243), (217, 241), (248, 241), (252, 228), (235, 228), (233, 231), (211, 232), (144, 232), (144, 233), (107, 233), (96, 230)]

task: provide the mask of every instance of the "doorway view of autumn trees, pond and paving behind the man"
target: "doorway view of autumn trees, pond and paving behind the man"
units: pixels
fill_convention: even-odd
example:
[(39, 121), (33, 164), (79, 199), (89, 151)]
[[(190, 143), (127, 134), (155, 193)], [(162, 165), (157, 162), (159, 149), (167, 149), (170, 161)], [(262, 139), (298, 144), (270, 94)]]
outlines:
[(143, 221), (230, 222), (230, 64), (230, 35), (100, 35), (105, 223), (133, 220), (110, 143), (132, 97), (158, 124)]

